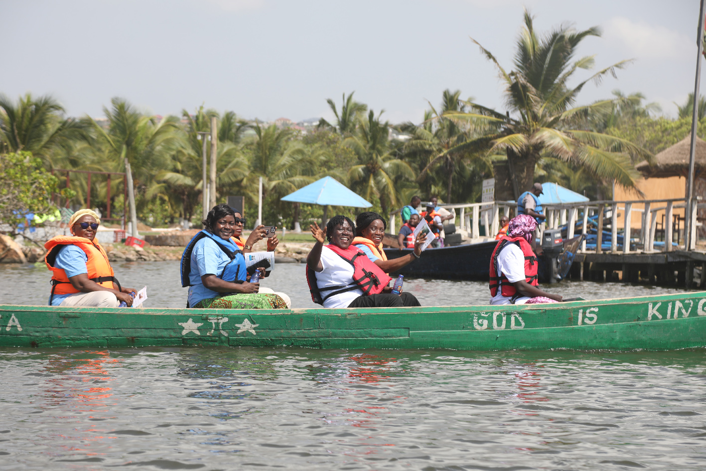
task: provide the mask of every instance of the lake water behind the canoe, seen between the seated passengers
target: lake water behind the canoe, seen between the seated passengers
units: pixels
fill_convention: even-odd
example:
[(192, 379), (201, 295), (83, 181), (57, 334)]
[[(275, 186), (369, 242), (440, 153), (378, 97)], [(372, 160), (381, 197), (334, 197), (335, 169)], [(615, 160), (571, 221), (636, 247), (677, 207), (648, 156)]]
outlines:
[[(150, 299), (146, 307), (184, 307), (186, 288), (181, 287), (179, 262), (119, 262), (114, 263), (116, 277), (123, 286), (140, 289), (147, 285)], [(0, 304), (45, 305), (49, 299), (49, 279), (46, 268), (30, 264), (1, 265)], [(315, 307), (304, 278), (304, 264), (280, 263), (261, 285), (282, 291), (292, 298), (292, 307)], [(624, 285), (622, 283), (571, 282), (544, 285), (549, 292), (563, 297), (606, 299), (616, 297), (650, 296), (683, 290), (674, 287)], [(414, 294), (422, 306), (468, 306), (488, 304), (490, 291), (487, 282), (457, 280), (405, 279), (405, 290)]]

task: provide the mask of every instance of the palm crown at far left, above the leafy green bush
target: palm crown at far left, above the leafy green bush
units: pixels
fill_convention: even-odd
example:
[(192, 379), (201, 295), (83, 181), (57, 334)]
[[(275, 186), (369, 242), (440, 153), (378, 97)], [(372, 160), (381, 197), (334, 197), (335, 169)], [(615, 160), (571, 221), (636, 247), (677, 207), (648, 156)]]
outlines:
[(0, 94), (0, 151), (26, 150), (50, 164), (53, 151), (70, 148), (85, 131), (81, 121), (63, 114), (64, 107), (49, 95), (35, 100), (28, 93), (15, 104)]

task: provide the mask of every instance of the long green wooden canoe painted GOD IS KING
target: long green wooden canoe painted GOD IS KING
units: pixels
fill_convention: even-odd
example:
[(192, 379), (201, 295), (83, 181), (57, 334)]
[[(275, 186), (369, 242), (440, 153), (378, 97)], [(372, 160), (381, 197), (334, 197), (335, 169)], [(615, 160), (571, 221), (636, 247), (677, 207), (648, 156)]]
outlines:
[(131, 309), (0, 305), (0, 346), (454, 350), (706, 347), (706, 292), (525, 306)]

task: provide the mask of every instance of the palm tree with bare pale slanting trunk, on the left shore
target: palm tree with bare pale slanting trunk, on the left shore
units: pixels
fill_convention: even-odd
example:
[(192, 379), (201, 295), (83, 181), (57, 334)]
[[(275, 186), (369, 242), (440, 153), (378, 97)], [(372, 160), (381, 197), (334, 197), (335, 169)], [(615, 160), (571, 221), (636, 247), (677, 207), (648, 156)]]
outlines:
[(125, 100), (113, 98), (110, 101), (110, 109), (103, 107), (103, 113), (108, 119), (107, 130), (91, 119), (97, 135), (95, 145), (97, 149), (104, 150), (107, 157), (117, 165), (124, 165), (128, 181), (131, 235), (138, 237), (133, 171), (137, 180), (148, 186), (152, 177), (168, 165), (169, 151), (178, 140), (178, 121), (176, 117), (166, 117), (157, 123), (155, 117), (138, 112)]

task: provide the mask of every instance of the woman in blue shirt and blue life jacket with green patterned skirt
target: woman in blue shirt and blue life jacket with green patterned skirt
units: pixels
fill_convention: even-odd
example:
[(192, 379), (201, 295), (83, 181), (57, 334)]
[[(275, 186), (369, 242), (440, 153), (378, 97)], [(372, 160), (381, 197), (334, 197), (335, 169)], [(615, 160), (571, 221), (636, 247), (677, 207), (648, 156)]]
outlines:
[[(232, 237), (242, 221), (233, 209), (215, 205), (203, 230), (191, 239), (181, 256), (181, 286), (189, 287), (187, 307), (225, 309), (287, 309), (289, 297), (260, 283), (249, 282), (245, 257)], [(264, 270), (261, 269), (261, 272)]]

